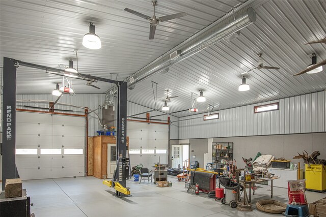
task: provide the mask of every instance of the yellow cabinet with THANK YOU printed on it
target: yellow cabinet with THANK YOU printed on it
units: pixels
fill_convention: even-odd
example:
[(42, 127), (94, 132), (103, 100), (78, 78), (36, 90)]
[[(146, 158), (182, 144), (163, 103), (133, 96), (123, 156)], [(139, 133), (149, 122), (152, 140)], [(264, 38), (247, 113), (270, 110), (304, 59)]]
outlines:
[(322, 164), (306, 164), (306, 189), (326, 190), (326, 166)]

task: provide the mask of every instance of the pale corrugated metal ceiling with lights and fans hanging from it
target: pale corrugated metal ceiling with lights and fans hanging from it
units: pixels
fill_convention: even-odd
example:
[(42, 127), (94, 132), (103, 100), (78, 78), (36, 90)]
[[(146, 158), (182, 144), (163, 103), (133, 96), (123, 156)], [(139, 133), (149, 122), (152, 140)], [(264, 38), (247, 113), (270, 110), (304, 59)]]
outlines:
[[(69, 58), (75, 57), (73, 50), (78, 49), (80, 72), (106, 78), (110, 78), (110, 73), (119, 73), (118, 80), (123, 80), (242, 2), (245, 1), (159, 1), (159, 16), (183, 11), (187, 16), (160, 23), (155, 39), (150, 41), (149, 24), (123, 11), (128, 7), (151, 15), (149, 1), (1, 1), (0, 63), (7, 56), (58, 68), (59, 64), (68, 65)], [(128, 91), (128, 100), (154, 108), (151, 80), (159, 84), (159, 97), (164, 97), (167, 88), (179, 96), (168, 103), (171, 112), (189, 108), (191, 91), (198, 94), (198, 89), (203, 89), (207, 98), (205, 103), (198, 103), (200, 111), (207, 110), (208, 103), (214, 104), (215, 109), (225, 109), (325, 89), (325, 72), (291, 75), (311, 64), (311, 53), (317, 54), (317, 61), (326, 59), (326, 45), (304, 45), (326, 37), (326, 1), (260, 4), (254, 7), (257, 21), (242, 29), (240, 37), (230, 42), (222, 40), (174, 65), (168, 73), (138, 83)], [(88, 32), (87, 17), (97, 18), (96, 34), (102, 41), (99, 50), (82, 45), (83, 35)], [(240, 73), (257, 66), (260, 52), (265, 65), (281, 69), (246, 74), (251, 89), (239, 92)], [(20, 67), (17, 91), (50, 93), (55, 81), (61, 78)], [(100, 82), (95, 85), (101, 89), (78, 85), (75, 92), (102, 93), (110, 87)], [(159, 107), (164, 104), (158, 102)]]

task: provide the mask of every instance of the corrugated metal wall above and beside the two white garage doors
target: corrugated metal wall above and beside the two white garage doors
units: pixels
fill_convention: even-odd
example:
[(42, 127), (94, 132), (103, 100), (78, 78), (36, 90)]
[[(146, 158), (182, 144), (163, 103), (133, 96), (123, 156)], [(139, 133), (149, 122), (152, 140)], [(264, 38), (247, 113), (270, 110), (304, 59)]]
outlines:
[[(56, 99), (57, 99), (57, 97), (55, 97), (53, 95), (50, 95), (50, 94), (17, 95), (17, 100), (55, 101)], [(59, 100), (59, 102), (60, 103), (72, 104), (72, 105), (75, 105), (75, 106), (88, 107), (90, 110), (94, 110), (94, 109), (98, 108), (99, 106), (103, 105), (104, 99), (105, 99), (104, 94), (75, 94), (72, 97), (64, 96)], [(23, 108), (23, 109), (37, 110), (37, 109), (33, 109), (33, 108), (22, 107), (23, 105), (34, 106), (34, 107), (47, 107), (48, 108), (47, 103), (40, 103), (40, 102), (19, 102), (17, 104), (21, 105), (21, 106), (17, 106), (17, 108)], [(56, 108), (57, 109), (66, 109), (66, 110), (79, 111), (80, 112), (79, 114), (83, 114), (83, 112), (84, 112), (84, 109), (73, 108), (71, 106), (63, 106), (63, 105), (59, 105), (59, 104), (58, 104), (58, 106), (56, 106)], [(137, 113), (141, 113), (141, 112), (145, 112), (145, 111), (149, 111), (149, 110), (152, 110), (152, 109), (141, 106), (141, 105), (138, 105), (138, 104), (135, 104), (135, 103), (131, 103), (131, 102), (128, 102), (128, 104), (127, 104), (127, 115), (133, 115), (133, 114), (137, 114)], [(67, 113), (69, 113), (69, 112), (67, 112)], [(97, 110), (96, 113), (101, 118), (101, 116), (102, 116), (101, 109)], [(162, 114), (162, 112), (155, 111), (155, 112), (151, 112), (150, 114), (151, 115), (158, 115), (158, 114)], [(146, 114), (139, 115), (139, 117), (146, 117)], [(162, 119), (162, 120), (167, 120), (168, 119), (167, 115), (159, 116), (157, 118)], [(177, 117), (171, 116), (171, 121), (177, 120), (177, 119), (178, 119)], [(89, 136), (95, 136), (96, 131), (101, 129), (98, 118), (96, 117), (94, 112), (89, 115), (88, 124), (89, 124), (89, 126), (88, 126), (88, 135)], [(177, 123), (173, 123), (171, 125), (171, 138), (173, 138), (173, 139), (178, 138), (178, 125), (177, 125)]]

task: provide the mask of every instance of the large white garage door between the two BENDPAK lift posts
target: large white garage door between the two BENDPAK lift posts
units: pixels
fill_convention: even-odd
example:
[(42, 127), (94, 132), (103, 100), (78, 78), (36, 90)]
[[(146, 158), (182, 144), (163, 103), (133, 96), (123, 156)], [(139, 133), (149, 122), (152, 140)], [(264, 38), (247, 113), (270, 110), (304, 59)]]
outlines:
[(16, 165), (20, 178), (85, 175), (85, 117), (16, 114)]

